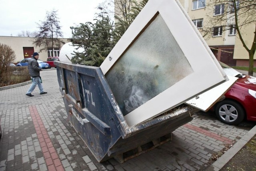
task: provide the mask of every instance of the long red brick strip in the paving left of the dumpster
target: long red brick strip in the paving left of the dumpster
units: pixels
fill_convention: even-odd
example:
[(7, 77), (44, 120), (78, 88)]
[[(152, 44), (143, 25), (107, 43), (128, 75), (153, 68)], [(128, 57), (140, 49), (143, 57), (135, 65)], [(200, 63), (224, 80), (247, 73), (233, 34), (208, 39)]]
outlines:
[(60, 161), (60, 158), (52, 145), (52, 141), (44, 127), (44, 123), (36, 109), (35, 105), (29, 106), (30, 115), (32, 117), (36, 134), (40, 142), (42, 153), (44, 154), (44, 160), (49, 171), (64, 171), (64, 167)]

